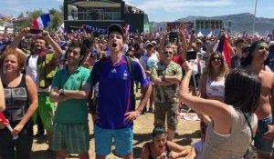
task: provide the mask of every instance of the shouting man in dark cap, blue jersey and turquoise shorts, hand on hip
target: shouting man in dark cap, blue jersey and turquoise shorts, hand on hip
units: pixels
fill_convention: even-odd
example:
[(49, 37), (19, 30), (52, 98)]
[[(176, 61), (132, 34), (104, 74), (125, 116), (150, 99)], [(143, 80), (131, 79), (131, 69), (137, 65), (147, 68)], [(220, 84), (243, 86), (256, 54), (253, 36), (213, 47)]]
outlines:
[[(110, 25), (108, 46), (111, 56), (96, 63), (92, 70), (92, 84), (99, 83), (99, 100), (94, 120), (96, 159), (106, 158), (111, 153), (114, 140), (115, 154), (125, 159), (133, 159), (133, 120), (141, 113), (151, 92), (152, 86), (142, 66), (132, 61), (133, 79), (145, 88), (144, 97), (135, 110), (132, 110), (132, 75), (127, 60), (122, 55), (124, 45), (120, 25)], [(100, 68), (99, 68), (100, 67)]]

